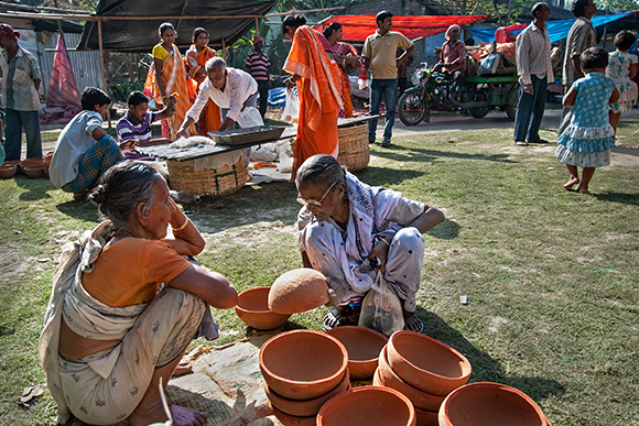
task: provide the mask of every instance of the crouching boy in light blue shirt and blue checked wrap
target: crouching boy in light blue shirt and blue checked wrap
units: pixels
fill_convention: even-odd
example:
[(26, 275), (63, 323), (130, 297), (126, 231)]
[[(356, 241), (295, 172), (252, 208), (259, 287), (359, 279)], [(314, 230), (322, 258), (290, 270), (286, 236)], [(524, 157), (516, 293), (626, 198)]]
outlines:
[(51, 182), (62, 190), (83, 199), (87, 189), (113, 164), (124, 160), (119, 146), (105, 129), (111, 99), (96, 87), (87, 87), (80, 103), (83, 111), (73, 118), (57, 136), (48, 168)]

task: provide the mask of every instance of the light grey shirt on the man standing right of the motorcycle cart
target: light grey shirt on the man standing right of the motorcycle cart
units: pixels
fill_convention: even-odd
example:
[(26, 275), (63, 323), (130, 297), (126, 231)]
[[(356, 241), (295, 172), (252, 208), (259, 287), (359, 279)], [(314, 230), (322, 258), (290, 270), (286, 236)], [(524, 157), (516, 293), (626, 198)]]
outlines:
[(546, 81), (554, 83), (550, 35), (545, 23), (543, 30), (531, 23), (517, 36), (517, 70), (519, 83), (523, 85), (532, 84), (531, 75), (540, 79), (548, 76)]

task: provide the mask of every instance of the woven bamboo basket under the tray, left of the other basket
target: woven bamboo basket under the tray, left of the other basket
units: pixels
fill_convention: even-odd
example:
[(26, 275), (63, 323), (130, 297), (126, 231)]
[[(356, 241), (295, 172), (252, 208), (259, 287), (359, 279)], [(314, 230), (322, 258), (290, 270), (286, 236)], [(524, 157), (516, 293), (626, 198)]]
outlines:
[(203, 168), (194, 172), (195, 160), (177, 162), (167, 160), (169, 187), (173, 190), (189, 190), (201, 196), (218, 196), (240, 190), (248, 181), (247, 159), (220, 168)]

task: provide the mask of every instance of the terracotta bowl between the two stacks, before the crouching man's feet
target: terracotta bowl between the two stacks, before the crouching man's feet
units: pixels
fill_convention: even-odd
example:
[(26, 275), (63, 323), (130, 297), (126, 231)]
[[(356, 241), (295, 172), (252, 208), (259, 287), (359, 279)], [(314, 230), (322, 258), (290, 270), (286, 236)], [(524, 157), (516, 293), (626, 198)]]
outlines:
[(326, 332), (346, 347), (350, 379), (372, 378), (377, 369), (379, 353), (388, 342), (385, 335), (370, 328), (356, 326), (335, 327)]

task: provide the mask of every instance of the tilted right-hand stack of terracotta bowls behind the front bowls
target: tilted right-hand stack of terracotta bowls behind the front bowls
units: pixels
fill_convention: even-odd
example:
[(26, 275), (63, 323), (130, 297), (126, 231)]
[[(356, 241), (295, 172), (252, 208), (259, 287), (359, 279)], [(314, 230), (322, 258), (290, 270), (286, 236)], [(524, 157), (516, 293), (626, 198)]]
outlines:
[(419, 426), (437, 426), (444, 398), (468, 382), (470, 371), (455, 349), (419, 332), (398, 331), (379, 356), (372, 383), (405, 395)]

